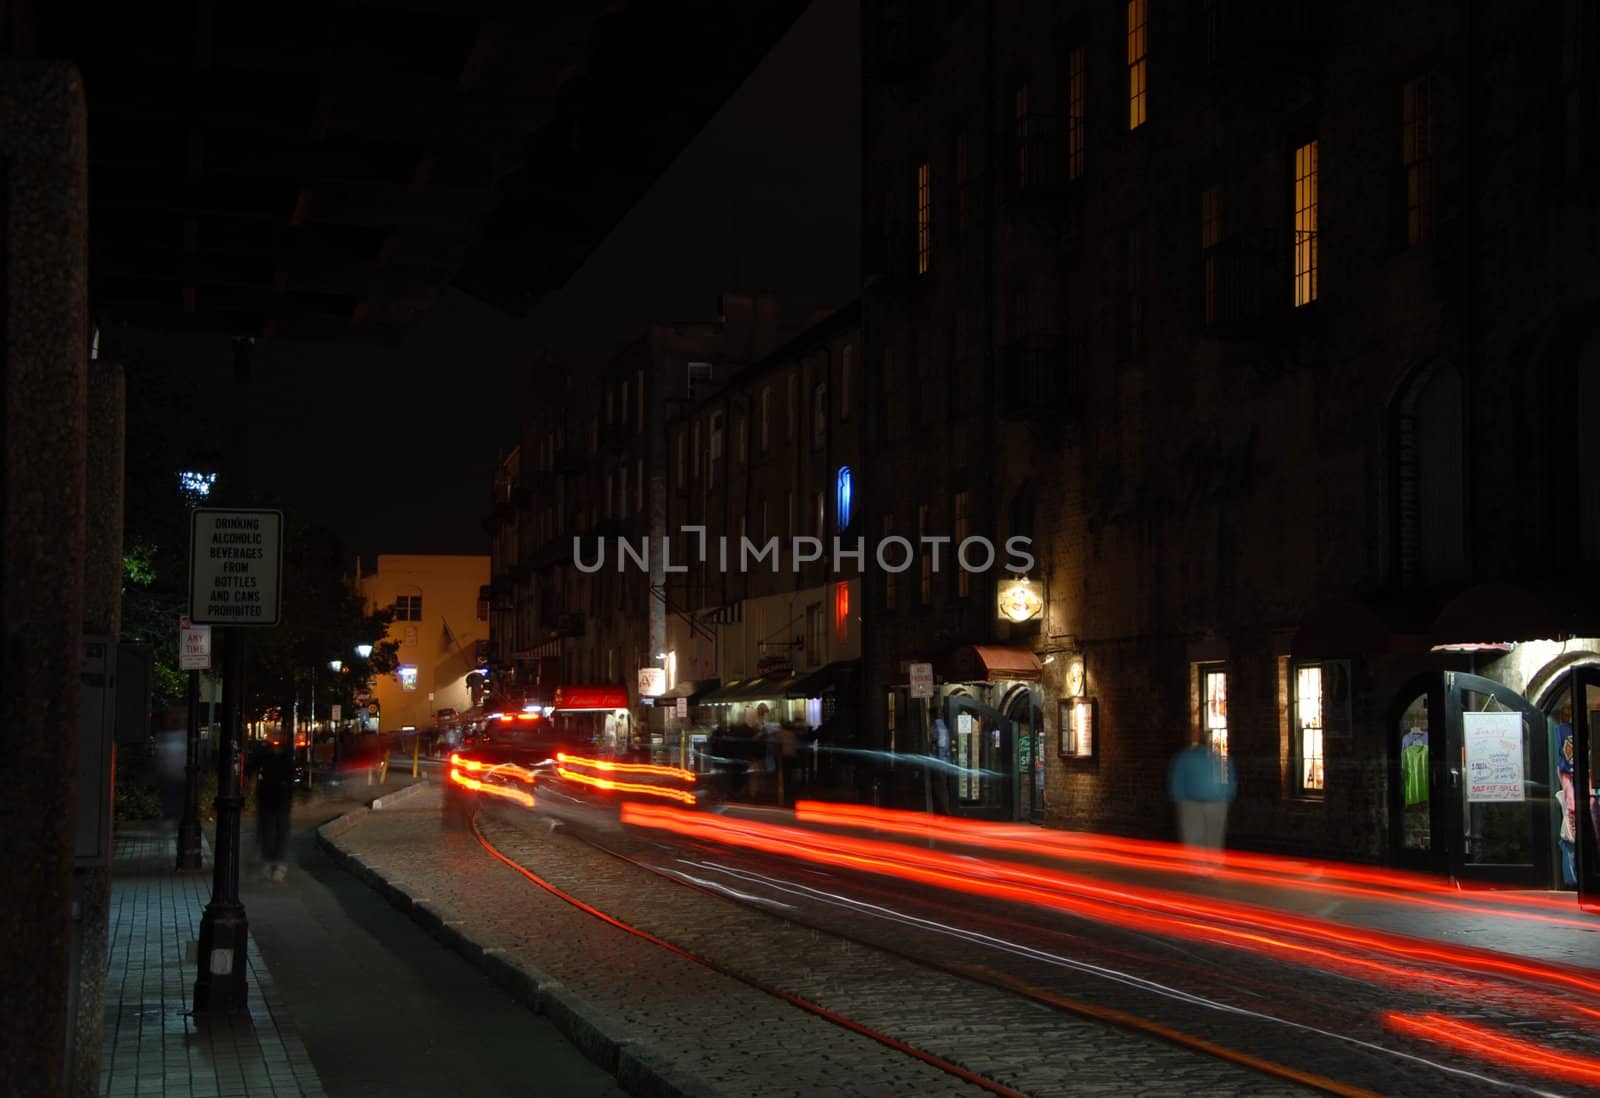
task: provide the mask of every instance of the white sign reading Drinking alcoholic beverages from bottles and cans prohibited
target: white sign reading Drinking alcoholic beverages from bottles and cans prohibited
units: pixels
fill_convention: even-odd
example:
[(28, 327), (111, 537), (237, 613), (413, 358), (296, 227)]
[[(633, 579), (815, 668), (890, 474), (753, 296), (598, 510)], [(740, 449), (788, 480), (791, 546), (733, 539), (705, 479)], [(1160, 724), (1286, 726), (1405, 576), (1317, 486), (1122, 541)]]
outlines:
[(195, 624), (278, 624), (282, 575), (282, 511), (194, 511), (189, 527), (189, 618)]

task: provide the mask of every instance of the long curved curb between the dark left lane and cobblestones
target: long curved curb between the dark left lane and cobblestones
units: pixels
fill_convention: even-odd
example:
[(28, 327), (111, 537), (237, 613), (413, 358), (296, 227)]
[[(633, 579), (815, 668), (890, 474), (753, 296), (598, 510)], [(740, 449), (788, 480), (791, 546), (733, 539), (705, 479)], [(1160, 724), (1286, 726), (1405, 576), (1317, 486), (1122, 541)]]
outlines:
[[(418, 783), (422, 786), (426, 783)], [(400, 792), (414, 789), (406, 786)], [(394, 795), (384, 797), (392, 803)], [(374, 800), (373, 808), (379, 803)], [(667, 1066), (661, 1058), (632, 1037), (624, 1036), (626, 1024), (603, 1005), (566, 988), (536, 968), (509, 957), (499, 946), (485, 946), (472, 940), (459, 919), (429, 900), (416, 900), (402, 884), (382, 876), (352, 855), (339, 837), (362, 821), (370, 819), (366, 808), (357, 808), (338, 819), (317, 828), (317, 842), (346, 872), (376, 890), (397, 909), (406, 912), (432, 938), (454, 949), (477, 965), (490, 980), (506, 989), (512, 999), (549, 1018), (555, 1028), (589, 1060), (611, 1072), (618, 1085), (642, 1098), (702, 1098), (717, 1088), (693, 1074)]]

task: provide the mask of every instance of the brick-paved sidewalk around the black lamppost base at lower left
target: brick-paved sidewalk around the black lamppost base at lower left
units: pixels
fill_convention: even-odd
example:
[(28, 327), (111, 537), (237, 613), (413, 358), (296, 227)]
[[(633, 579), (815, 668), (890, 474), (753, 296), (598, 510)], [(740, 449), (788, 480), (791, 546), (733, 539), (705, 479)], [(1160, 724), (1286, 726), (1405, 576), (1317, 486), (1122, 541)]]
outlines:
[(190, 1013), (194, 949), (211, 898), (210, 845), (205, 853), (205, 871), (178, 872), (174, 829), (117, 829), (99, 1093), (320, 1096), (317, 1071), (253, 943), (248, 1013)]

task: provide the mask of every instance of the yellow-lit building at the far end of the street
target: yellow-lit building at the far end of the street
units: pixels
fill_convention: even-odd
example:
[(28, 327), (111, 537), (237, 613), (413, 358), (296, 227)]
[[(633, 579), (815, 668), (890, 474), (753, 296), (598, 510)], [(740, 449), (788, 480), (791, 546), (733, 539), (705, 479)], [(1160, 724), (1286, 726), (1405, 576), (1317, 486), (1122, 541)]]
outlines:
[(400, 642), (400, 669), (373, 683), (379, 731), (432, 728), (440, 709), (470, 707), (467, 675), (490, 635), (488, 603), (478, 602), (488, 581), (486, 555), (379, 555), (378, 571), (362, 578), (371, 610), (394, 607), (389, 639)]

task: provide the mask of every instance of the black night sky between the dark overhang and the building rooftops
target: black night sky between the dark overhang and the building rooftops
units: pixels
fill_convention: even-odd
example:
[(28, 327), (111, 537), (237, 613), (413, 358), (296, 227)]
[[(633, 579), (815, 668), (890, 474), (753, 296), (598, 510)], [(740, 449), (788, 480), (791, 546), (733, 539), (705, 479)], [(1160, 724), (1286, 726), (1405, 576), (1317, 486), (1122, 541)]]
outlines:
[[(258, 503), (379, 552), (488, 552), (498, 455), (542, 349), (606, 355), (650, 320), (710, 320), (774, 290), (786, 323), (859, 291), (859, 10), (816, 0), (658, 184), (526, 319), (446, 290), (403, 344), (256, 344)], [(109, 355), (197, 381), (197, 435), (227, 429), (227, 339), (118, 331)], [(138, 371), (130, 373), (138, 384)]]

